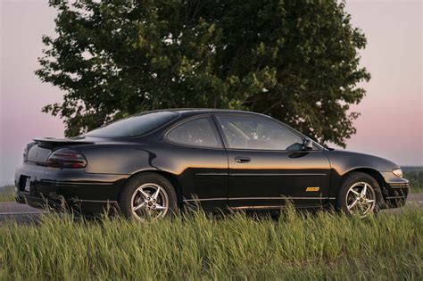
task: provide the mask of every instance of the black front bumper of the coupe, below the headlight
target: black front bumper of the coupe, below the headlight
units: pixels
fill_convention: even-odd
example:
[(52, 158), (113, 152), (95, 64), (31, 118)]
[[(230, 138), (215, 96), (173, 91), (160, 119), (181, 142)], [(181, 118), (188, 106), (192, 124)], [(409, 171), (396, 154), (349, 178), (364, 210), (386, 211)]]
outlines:
[(385, 180), (386, 188), (382, 190), (387, 208), (402, 207), (410, 193), (409, 181), (405, 178), (396, 177), (391, 171), (381, 172)]

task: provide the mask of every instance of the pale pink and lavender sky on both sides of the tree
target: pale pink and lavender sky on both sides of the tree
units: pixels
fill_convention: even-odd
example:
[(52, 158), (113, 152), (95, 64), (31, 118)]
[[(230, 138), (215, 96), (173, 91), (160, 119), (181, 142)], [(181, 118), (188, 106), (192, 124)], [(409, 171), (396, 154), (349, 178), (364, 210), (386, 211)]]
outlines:
[[(361, 116), (346, 148), (423, 166), (423, 2), (348, 1), (346, 11), (366, 34), (361, 65), (372, 76), (361, 85), (367, 96), (352, 106)], [(54, 17), (47, 1), (0, 0), (0, 185), (12, 183), (32, 138), (63, 136), (62, 120), (41, 112), (63, 92), (34, 74)]]

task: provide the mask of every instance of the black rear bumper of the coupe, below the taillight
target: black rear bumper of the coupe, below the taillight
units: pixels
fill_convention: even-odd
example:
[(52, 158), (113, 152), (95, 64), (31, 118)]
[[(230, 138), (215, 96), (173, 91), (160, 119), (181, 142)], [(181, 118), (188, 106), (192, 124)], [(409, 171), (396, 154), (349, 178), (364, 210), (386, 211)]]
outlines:
[[(95, 213), (116, 208), (129, 175), (89, 174), (84, 169), (55, 169), (26, 162), (15, 173), (16, 201), (37, 208)], [(29, 188), (27, 186), (29, 181)], [(27, 187), (28, 187), (27, 186)]]

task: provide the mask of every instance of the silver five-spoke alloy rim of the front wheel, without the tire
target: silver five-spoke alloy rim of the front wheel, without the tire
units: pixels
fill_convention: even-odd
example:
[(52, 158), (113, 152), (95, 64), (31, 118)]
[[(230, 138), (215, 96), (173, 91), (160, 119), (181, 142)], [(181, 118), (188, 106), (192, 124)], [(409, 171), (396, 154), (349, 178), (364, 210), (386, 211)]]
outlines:
[(346, 193), (346, 205), (352, 215), (369, 216), (376, 206), (375, 189), (366, 182), (353, 184)]

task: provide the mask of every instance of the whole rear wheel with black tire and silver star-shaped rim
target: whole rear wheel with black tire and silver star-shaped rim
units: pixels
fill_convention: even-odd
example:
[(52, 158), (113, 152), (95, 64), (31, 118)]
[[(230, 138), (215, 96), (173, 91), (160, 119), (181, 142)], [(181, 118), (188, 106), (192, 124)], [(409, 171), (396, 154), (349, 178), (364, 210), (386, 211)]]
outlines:
[(128, 219), (160, 219), (178, 211), (177, 194), (167, 178), (141, 173), (129, 179), (118, 199), (120, 212)]

